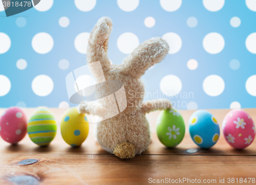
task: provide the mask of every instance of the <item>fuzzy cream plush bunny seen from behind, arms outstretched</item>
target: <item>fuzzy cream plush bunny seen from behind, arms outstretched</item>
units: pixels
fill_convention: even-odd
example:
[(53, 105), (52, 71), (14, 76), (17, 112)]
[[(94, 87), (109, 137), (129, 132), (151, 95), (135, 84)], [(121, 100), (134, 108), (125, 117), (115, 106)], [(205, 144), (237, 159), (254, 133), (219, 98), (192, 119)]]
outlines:
[[(169, 46), (159, 37), (152, 38), (138, 46), (121, 65), (111, 64), (108, 58), (108, 42), (112, 31), (112, 21), (108, 17), (98, 20), (92, 31), (87, 48), (87, 62), (100, 61), (105, 80), (122, 82), (127, 107), (116, 116), (101, 120), (96, 125), (96, 139), (101, 147), (120, 158), (133, 158), (147, 149), (151, 142), (150, 125), (145, 114), (156, 110), (172, 108), (167, 99), (143, 102), (145, 87), (140, 77), (145, 71), (161, 62), (168, 53)], [(97, 83), (100, 79), (95, 76)], [(90, 105), (90, 113), (101, 117), (108, 109), (104, 100)], [(89, 105), (79, 104), (79, 113), (89, 113)]]

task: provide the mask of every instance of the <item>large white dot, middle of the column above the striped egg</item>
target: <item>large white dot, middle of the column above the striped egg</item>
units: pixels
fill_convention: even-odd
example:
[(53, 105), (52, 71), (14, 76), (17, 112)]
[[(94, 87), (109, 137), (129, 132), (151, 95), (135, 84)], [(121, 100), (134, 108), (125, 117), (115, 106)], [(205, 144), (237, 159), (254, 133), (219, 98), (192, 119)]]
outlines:
[(47, 54), (53, 48), (52, 36), (48, 33), (38, 33), (32, 39), (32, 47), (38, 54)]

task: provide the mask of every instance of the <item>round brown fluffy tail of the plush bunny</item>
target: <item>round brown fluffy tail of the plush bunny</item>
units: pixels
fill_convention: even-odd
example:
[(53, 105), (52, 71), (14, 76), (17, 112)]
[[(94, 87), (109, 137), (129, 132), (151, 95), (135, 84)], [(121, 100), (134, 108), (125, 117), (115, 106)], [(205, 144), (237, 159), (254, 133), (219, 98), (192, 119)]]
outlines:
[(119, 143), (114, 151), (113, 154), (120, 158), (134, 158), (135, 157), (135, 146), (131, 143), (122, 142)]

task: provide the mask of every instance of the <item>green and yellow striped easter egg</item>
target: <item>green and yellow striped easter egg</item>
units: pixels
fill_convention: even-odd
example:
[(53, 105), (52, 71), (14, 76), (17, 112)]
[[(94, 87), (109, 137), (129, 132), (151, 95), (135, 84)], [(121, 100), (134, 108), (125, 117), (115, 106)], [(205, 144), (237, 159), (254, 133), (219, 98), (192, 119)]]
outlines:
[(37, 145), (47, 146), (54, 139), (57, 125), (53, 114), (47, 108), (38, 108), (28, 122), (28, 134)]

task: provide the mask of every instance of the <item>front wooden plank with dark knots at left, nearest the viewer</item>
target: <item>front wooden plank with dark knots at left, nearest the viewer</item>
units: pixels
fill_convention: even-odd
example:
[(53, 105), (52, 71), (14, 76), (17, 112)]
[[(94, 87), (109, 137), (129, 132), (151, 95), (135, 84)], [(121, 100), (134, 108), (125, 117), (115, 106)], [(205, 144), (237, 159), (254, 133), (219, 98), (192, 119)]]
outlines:
[[(27, 158), (36, 158), (39, 162), (17, 164)], [(216, 179), (216, 184), (224, 178), (227, 184), (227, 178), (255, 178), (255, 158), (139, 155), (132, 160), (121, 160), (114, 155), (1, 154), (0, 184), (7, 184), (19, 175), (35, 177), (41, 184), (148, 184), (149, 178), (188, 178), (201, 182)]]

